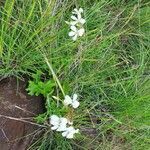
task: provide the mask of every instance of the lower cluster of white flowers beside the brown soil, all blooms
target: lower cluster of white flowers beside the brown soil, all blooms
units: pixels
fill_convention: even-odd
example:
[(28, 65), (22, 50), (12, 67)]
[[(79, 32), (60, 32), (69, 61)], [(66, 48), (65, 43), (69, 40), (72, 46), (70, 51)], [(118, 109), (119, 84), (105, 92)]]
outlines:
[[(80, 103), (77, 101), (77, 94), (74, 94), (73, 98), (68, 95), (65, 96), (65, 106), (70, 105), (73, 108), (77, 108), (79, 104)], [(67, 118), (64, 117), (58, 117), (57, 115), (52, 115), (50, 117), (50, 124), (52, 125), (52, 130), (62, 132), (62, 136), (68, 139), (72, 139), (74, 134), (79, 132), (79, 129), (74, 129), (73, 126), (69, 126), (72, 125), (73, 122), (70, 122)]]

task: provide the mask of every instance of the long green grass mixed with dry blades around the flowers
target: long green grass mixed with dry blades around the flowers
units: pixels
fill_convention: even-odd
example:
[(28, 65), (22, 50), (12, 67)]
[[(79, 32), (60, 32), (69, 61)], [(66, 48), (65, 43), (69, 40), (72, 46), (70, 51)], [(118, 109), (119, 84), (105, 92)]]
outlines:
[[(72, 42), (65, 21), (75, 7), (85, 10), (86, 35)], [(1, 78), (40, 70), (49, 79), (44, 54), (66, 94), (80, 95), (76, 140), (49, 129), (31, 149), (149, 149), (149, 1), (6, 0), (0, 17)]]

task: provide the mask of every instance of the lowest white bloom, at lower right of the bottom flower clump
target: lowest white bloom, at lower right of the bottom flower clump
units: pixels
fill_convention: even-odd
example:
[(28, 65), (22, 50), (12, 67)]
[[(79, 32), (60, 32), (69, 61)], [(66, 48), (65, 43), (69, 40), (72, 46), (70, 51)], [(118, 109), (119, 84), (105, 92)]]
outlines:
[(74, 134), (78, 132), (79, 132), (79, 129), (75, 130), (74, 127), (70, 126), (62, 133), (62, 136), (68, 139), (72, 139)]

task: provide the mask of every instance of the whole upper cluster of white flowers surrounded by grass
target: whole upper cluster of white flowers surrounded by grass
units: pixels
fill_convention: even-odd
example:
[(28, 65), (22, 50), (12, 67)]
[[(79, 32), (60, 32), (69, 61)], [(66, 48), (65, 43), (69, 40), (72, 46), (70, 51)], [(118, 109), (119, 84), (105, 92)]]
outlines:
[(80, 8), (79, 10), (75, 8), (72, 11), (71, 22), (66, 22), (70, 25), (71, 31), (69, 32), (69, 36), (72, 37), (73, 41), (76, 41), (78, 37), (83, 36), (85, 33), (85, 29), (83, 25), (85, 24), (85, 19), (82, 18), (83, 9)]

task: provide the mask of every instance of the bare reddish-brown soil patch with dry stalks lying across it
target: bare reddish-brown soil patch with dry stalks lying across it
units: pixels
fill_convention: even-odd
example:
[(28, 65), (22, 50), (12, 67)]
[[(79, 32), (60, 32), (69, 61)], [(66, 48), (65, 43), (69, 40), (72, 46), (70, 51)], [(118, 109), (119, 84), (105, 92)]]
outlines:
[(26, 86), (15, 78), (0, 81), (0, 150), (26, 150), (40, 130), (28, 119), (44, 112), (44, 101), (29, 96)]

